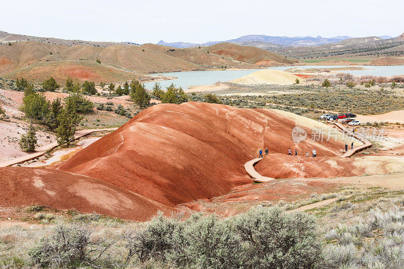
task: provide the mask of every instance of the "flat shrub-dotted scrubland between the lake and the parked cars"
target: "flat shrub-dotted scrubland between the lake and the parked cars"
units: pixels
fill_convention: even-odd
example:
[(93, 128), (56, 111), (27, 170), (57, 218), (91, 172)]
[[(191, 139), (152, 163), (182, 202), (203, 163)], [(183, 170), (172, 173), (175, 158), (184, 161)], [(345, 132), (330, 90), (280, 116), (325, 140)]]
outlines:
[[(403, 109), (404, 95), (401, 93), (401, 87), (404, 88), (404, 84), (394, 81), (380, 82), (383, 80), (378, 77), (366, 76), (361, 77), (364, 86), (360, 86), (361, 81), (358, 82), (357, 78), (349, 74), (343, 75), (338, 78), (324, 79), (320, 85), (247, 86), (237, 91), (261, 91), (263, 94), (240, 96), (234, 91), (235, 94), (229, 97), (237, 99), (233, 100), (233, 104), (239, 107), (268, 107), (266, 104), (270, 103), (271, 108), (299, 115), (307, 113), (307, 110), (341, 113), (349, 110), (367, 115)], [(377, 84), (377, 81), (381, 84)], [(366, 84), (369, 84), (369, 87)], [(271, 90), (276, 90), (277, 93), (265, 94), (266, 91), (271, 92)]]

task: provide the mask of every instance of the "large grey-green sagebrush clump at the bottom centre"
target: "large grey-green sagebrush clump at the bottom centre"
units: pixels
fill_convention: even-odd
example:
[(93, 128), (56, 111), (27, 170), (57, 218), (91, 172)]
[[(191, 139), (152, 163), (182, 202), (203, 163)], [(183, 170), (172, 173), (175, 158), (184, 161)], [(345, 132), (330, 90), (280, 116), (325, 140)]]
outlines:
[(239, 216), (162, 214), (141, 231), (127, 231), (127, 259), (195, 268), (311, 268), (320, 259), (315, 221), (304, 213), (255, 208)]

